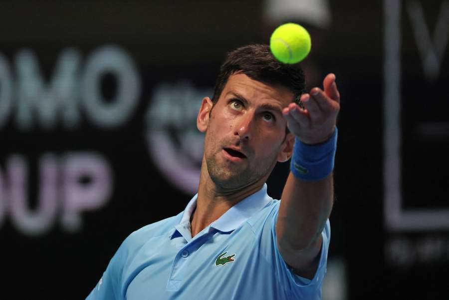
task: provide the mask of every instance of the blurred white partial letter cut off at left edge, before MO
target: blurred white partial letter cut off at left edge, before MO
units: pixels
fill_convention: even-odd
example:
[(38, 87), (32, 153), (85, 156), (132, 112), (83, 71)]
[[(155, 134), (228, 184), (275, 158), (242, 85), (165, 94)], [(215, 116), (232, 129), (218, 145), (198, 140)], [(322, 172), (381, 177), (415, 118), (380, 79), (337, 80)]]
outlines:
[(12, 77), (6, 58), (0, 53), (0, 128), (12, 107)]

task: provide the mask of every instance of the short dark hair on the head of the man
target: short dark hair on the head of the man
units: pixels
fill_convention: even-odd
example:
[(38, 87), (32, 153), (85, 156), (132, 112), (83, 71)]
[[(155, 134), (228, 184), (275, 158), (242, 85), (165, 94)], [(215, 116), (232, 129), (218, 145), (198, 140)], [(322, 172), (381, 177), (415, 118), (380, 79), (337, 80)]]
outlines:
[(298, 64), (278, 61), (268, 45), (251, 44), (227, 53), (215, 85), (212, 97), (214, 105), (220, 98), (229, 76), (234, 73), (243, 73), (268, 85), (284, 86), (293, 93), (297, 103), (305, 90), (304, 72)]

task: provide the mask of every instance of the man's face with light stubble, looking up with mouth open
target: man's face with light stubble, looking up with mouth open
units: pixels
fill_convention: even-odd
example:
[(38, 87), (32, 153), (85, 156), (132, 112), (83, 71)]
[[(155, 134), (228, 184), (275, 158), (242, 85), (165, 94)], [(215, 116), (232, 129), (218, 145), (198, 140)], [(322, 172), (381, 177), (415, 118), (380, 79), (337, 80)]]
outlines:
[(287, 88), (243, 73), (229, 76), (215, 106), (203, 99), (197, 125), (206, 131), (205, 161), (215, 184), (237, 189), (265, 182), (276, 162), (290, 157), (294, 137), (285, 136), (282, 108), (292, 99)]

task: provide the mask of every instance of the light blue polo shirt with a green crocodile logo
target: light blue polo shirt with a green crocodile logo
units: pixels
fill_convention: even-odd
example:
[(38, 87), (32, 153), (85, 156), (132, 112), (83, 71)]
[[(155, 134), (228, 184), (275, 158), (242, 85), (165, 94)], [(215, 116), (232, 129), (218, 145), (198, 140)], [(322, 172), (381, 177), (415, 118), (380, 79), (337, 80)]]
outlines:
[(329, 220), (314, 278), (288, 268), (276, 246), (279, 200), (266, 184), (192, 238), (184, 212), (133, 232), (109, 262), (88, 300), (321, 299), (329, 247)]

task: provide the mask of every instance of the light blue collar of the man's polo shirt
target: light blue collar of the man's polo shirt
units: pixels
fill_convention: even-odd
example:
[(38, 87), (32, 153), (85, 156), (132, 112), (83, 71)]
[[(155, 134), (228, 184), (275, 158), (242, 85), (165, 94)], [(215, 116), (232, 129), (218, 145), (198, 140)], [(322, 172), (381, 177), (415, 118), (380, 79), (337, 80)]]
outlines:
[[(222, 232), (233, 231), (271, 201), (271, 197), (267, 195), (266, 190), (267, 186), (265, 183), (260, 190), (232, 206), (210, 226)], [(190, 230), (190, 216), (192, 216), (193, 211), (197, 207), (197, 199), (198, 194), (187, 204), (181, 222), (176, 226), (177, 229), (180, 227), (179, 225), (188, 225), (187, 227)]]

